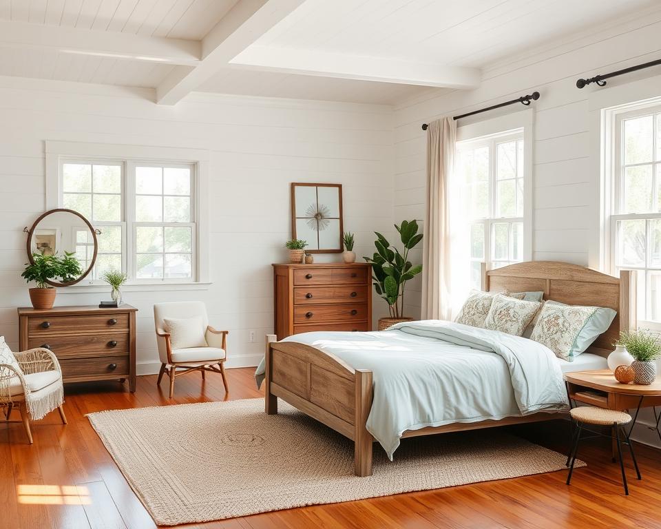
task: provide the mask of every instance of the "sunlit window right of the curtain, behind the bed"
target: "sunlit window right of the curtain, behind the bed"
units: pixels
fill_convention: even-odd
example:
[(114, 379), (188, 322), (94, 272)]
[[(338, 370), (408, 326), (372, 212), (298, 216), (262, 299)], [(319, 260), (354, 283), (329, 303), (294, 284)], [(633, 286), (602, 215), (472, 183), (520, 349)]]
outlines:
[(470, 284), (490, 269), (524, 259), (523, 129), (457, 143), (463, 222), (470, 245)]

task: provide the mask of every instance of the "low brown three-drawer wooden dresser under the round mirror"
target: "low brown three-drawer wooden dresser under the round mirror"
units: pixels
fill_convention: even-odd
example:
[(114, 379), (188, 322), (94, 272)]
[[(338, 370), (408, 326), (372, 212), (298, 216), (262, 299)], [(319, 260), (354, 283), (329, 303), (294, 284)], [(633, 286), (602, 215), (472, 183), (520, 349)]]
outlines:
[(19, 309), (21, 351), (45, 347), (55, 353), (64, 382), (129, 380), (136, 391), (136, 311), (53, 307)]

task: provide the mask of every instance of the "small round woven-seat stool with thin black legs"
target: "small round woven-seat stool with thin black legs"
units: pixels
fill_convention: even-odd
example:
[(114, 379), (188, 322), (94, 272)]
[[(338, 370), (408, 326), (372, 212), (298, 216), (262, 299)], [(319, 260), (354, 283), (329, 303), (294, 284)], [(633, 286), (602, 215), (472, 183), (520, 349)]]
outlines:
[[(629, 440), (629, 437), (627, 437), (627, 434), (624, 430), (624, 426), (631, 422), (631, 415), (623, 411), (597, 408), (596, 406), (580, 406), (578, 408), (571, 408), (569, 415), (571, 415), (571, 419), (576, 422), (576, 433), (574, 433), (573, 447), (571, 448), (571, 453), (569, 453), (569, 458), (567, 459), (567, 464), (569, 465), (567, 485), (569, 485), (569, 482), (571, 481), (571, 474), (574, 472), (574, 463), (576, 462), (576, 453), (578, 452), (578, 442), (580, 442), (581, 433), (583, 430), (585, 430), (596, 435), (601, 435), (602, 437), (609, 437), (616, 440), (618, 445), (618, 456), (620, 458), (620, 470), (622, 470), (622, 484), (625, 486), (625, 494), (629, 495), (627, 475), (625, 474), (625, 464), (624, 461), (622, 461), (622, 444), (629, 446), (631, 459), (633, 460), (633, 466), (636, 468), (636, 475), (638, 476), (638, 479), (641, 479), (640, 470), (638, 470), (638, 463), (636, 462), (636, 455), (633, 453), (633, 446), (631, 446), (631, 441)], [(611, 426), (613, 428), (612, 431), (614, 431), (616, 435), (613, 437), (612, 435), (590, 430), (587, 428), (587, 425)], [(623, 440), (620, 439), (620, 435), (623, 437)]]

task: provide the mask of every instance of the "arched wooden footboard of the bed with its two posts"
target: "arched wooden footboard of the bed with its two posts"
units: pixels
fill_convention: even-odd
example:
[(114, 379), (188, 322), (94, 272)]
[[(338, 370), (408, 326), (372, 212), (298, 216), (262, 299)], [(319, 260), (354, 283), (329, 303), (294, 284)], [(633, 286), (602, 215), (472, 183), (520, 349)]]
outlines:
[(266, 336), (264, 411), (277, 413), (277, 398), (354, 442), (354, 470), (372, 475), (373, 437), (365, 428), (372, 407), (372, 372), (353, 369), (334, 355)]

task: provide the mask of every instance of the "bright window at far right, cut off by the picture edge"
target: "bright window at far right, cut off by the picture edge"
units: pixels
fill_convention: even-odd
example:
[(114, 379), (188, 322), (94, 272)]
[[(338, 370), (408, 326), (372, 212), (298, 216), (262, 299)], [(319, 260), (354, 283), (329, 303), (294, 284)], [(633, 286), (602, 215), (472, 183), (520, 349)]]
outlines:
[(638, 319), (661, 322), (661, 107), (618, 114), (611, 269), (638, 270)]

